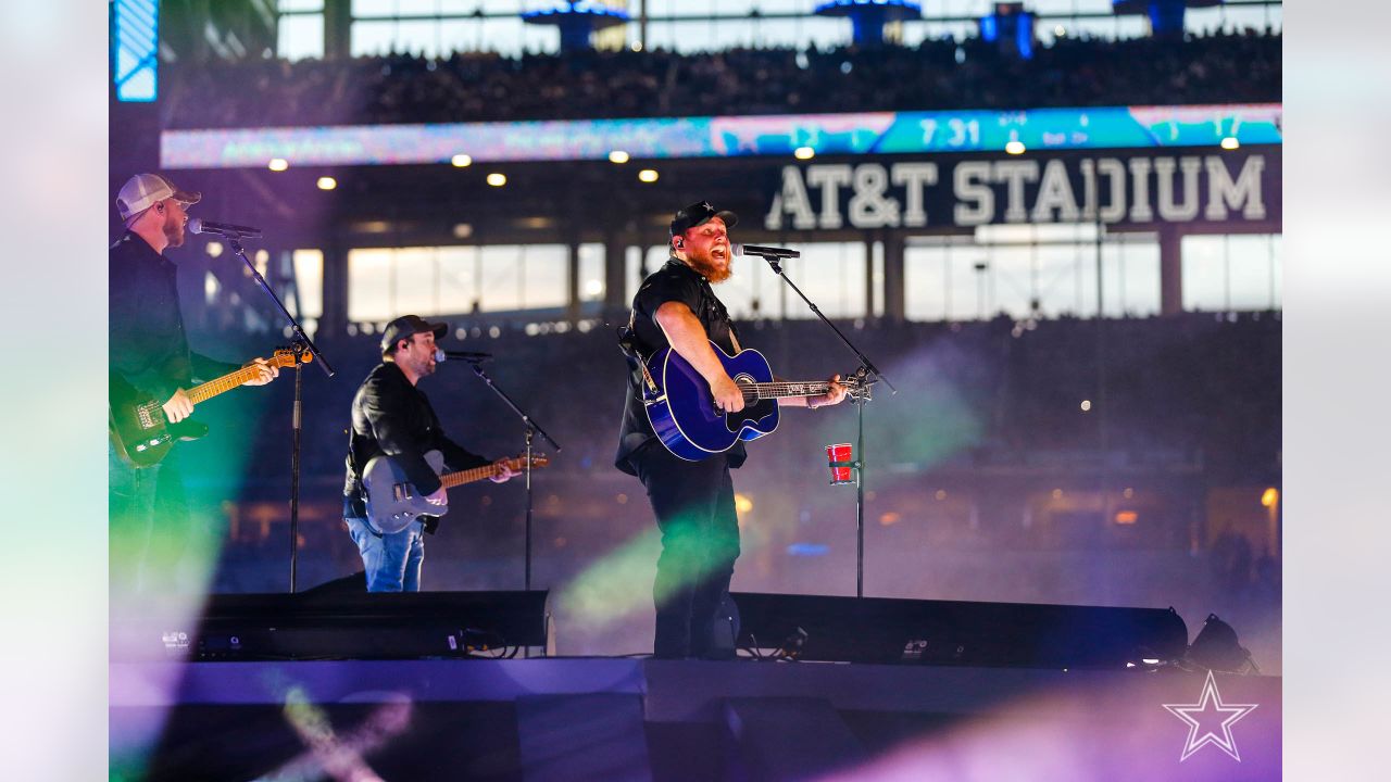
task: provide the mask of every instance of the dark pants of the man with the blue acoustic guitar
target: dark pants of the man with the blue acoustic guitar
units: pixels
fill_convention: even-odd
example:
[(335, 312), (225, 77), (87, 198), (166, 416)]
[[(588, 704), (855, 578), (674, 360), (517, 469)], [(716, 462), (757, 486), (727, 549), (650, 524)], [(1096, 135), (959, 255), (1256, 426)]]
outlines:
[(739, 558), (739, 516), (727, 458), (687, 462), (661, 442), (651, 442), (633, 454), (632, 463), (662, 530), (662, 555), (652, 584), (652, 653), (705, 657), (712, 651), (712, 623)]

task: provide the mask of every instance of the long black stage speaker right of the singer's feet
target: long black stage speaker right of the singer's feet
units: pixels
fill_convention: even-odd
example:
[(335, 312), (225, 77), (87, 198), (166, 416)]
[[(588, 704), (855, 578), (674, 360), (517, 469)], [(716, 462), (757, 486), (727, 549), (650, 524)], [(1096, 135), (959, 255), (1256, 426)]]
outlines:
[(1184, 657), (1173, 608), (733, 593), (740, 648), (798, 660), (1125, 668)]

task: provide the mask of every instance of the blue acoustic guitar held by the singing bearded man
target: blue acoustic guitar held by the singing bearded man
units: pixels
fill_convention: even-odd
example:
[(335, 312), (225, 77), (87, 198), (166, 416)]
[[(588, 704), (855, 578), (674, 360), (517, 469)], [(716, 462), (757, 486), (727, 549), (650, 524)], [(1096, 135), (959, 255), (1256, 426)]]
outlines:
[[(829, 380), (773, 380), (768, 359), (758, 351), (747, 349), (730, 356), (714, 342), (709, 346), (744, 392), (744, 409), (737, 413), (715, 406), (709, 384), (676, 351), (662, 348), (647, 362), (647, 374), (657, 385), (644, 385), (647, 420), (652, 422), (652, 430), (666, 449), (687, 462), (723, 454), (740, 440), (772, 434), (778, 429), (778, 399), (819, 397), (830, 388)], [(840, 384), (851, 394), (868, 398), (869, 387), (854, 377)]]

